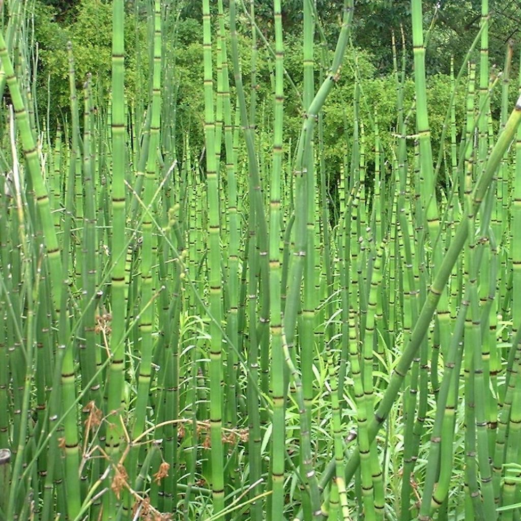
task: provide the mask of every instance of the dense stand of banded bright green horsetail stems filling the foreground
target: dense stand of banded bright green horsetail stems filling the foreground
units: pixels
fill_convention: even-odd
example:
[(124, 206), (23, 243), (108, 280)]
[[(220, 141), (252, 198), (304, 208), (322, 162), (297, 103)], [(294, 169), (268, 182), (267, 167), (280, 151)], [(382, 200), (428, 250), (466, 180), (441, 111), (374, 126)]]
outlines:
[(358, 118), (351, 59), (334, 171), (324, 107), (356, 52), (352, 0), (329, 53), (303, 0), (301, 91), (281, 0), (268, 36), (255, 2), (203, 0), (202, 146), (176, 119), (175, 2), (145, 2), (132, 103), (131, 6), (111, 2), (110, 92), (69, 44), (56, 124), (27, 4), (0, 7), (0, 520), (520, 519), (521, 80), (511, 46), (490, 74), (488, 0), (439, 150), (412, 0), (413, 49), (389, 35), (394, 126), (378, 105)]

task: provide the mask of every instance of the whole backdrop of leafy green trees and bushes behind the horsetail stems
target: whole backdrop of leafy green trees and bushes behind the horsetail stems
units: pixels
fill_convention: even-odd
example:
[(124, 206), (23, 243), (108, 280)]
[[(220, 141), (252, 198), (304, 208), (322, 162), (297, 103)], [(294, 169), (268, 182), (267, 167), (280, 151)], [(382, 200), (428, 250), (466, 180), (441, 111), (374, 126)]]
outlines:
[[(173, 5), (173, 4), (172, 4)], [(175, 7), (175, 6), (173, 6)], [(197, 2), (187, 2), (179, 5), (181, 15), (176, 24), (175, 34), (166, 42), (171, 46), (172, 55), (176, 60), (175, 74), (179, 83), (178, 96), (178, 132), (190, 130), (194, 145), (203, 146), (202, 120), (203, 96), (199, 86), (202, 82), (202, 66), (194, 67), (195, 63), (202, 64), (202, 14), (201, 6)], [(337, 0), (317, 0), (316, 9), (325, 31), (326, 46), (336, 41), (339, 24), (341, 2)], [(494, 3), (493, 18), (490, 24), (490, 55), (493, 63), (498, 64), (497, 72), (503, 63), (505, 42), (518, 35), (519, 27), (515, 23), (521, 17), (521, 4), (517, 2)], [(210, 6), (213, 9), (213, 6)], [(138, 1), (127, 5), (126, 20), (126, 48), (127, 51), (127, 96), (132, 102), (135, 86), (148, 78), (148, 53), (142, 53), (141, 70), (137, 70), (134, 49), (137, 45), (145, 48), (144, 42), (147, 32), (147, 4)], [(137, 17), (134, 15), (137, 14)], [(238, 13), (239, 45), (241, 66), (244, 81), (250, 78), (251, 67), (251, 40), (250, 21), (242, 9)], [(265, 38), (272, 45), (273, 40), (273, 13), (272, 2), (256, 0), (256, 23)], [(432, 107), (432, 137), (435, 147), (441, 135), (446, 103), (449, 101), (449, 78), (447, 67), (450, 56), (455, 57), (455, 66), (459, 67), (463, 61), (466, 49), (472, 44), (479, 31), (480, 3), (476, 0), (456, 2), (444, 0), (442, 2), (424, 2), (424, 27), (429, 28), (427, 33), (426, 69), (428, 73), (428, 95)], [(412, 60), (411, 29), (407, 23), (410, 17), (410, 2), (408, 0), (359, 0), (355, 2), (355, 16), (353, 20), (353, 45), (357, 49), (357, 67), (361, 79), (364, 81), (364, 93), (361, 104), (361, 116), (365, 120), (368, 140), (372, 138), (369, 118), (372, 117), (370, 107), (375, 100), (379, 106), (388, 105), (389, 110), (379, 115), (380, 124), (385, 128), (393, 127), (392, 114), (394, 111), (394, 79), (390, 76), (392, 69), (391, 33), (394, 31), (396, 42), (401, 45), (401, 30), (403, 28), (406, 56)], [(97, 20), (96, 24), (92, 20)], [(228, 23), (226, 21), (226, 23)], [(291, 77), (299, 93), (302, 91), (301, 64), (302, 64), (302, 1), (285, 0), (282, 2), (282, 23), (286, 31), (284, 67)], [(106, 31), (98, 31), (103, 26)], [(291, 28), (294, 28), (292, 31)], [(78, 86), (85, 78), (86, 73), (92, 72), (97, 81), (98, 92), (108, 92), (107, 85), (110, 72), (110, 4), (100, 0), (78, 0), (64, 2), (63, 0), (36, 0), (35, 2), (35, 36), (39, 42), (40, 71), (39, 81), (44, 85), (37, 90), (40, 94), (40, 108), (47, 107), (47, 100), (51, 106), (51, 125), (57, 119), (68, 113), (69, 93), (67, 82), (61, 81), (67, 73), (67, 41), (71, 41), (76, 59)], [(320, 42), (317, 31), (317, 43)], [(229, 45), (229, 42), (228, 42)], [(259, 40), (259, 51), (268, 56), (265, 47)], [(518, 43), (515, 47), (518, 46)], [(400, 49), (399, 49), (400, 51)], [(517, 49), (514, 49), (516, 52)], [(329, 49), (332, 52), (332, 49)], [(343, 160), (344, 140), (340, 129), (344, 128), (344, 121), (351, 121), (349, 115), (352, 110), (352, 84), (355, 70), (353, 53), (348, 53), (342, 67), (341, 79), (330, 96), (325, 107), (325, 118), (328, 119), (328, 131), (325, 135), (328, 166), (338, 170)], [(478, 49), (474, 58), (477, 59)], [(272, 57), (270, 58), (272, 59)], [(410, 65), (410, 64), (409, 64)], [(514, 64), (514, 69), (517, 63)], [(259, 98), (267, 98), (271, 94), (271, 69), (266, 59), (257, 60), (257, 83)], [(408, 67), (411, 70), (412, 67)], [(319, 60), (316, 60), (315, 79), (318, 86), (320, 78)], [(435, 75), (435, 76), (432, 76)], [(513, 70), (512, 77), (517, 75)], [(139, 79), (140, 78), (140, 79)], [(233, 89), (233, 79), (231, 79)], [(47, 97), (47, 85), (50, 96)], [(285, 106), (286, 122), (290, 129), (288, 135), (296, 139), (301, 125), (302, 107), (300, 94), (289, 85), (285, 86), (287, 97)], [(406, 85), (406, 106), (411, 106), (414, 89), (412, 80)], [(514, 90), (512, 90), (513, 95)], [(499, 91), (494, 94), (499, 96)], [(498, 98), (499, 99), (499, 98)], [(498, 119), (497, 100), (493, 98), (493, 116)], [(408, 105), (407, 105), (408, 104)], [(458, 105), (459, 106), (459, 105)], [(265, 107), (266, 117), (270, 117), (271, 107)], [(460, 115), (461, 116), (461, 115)], [(388, 120), (386, 120), (386, 117)], [(338, 132), (331, 129), (337, 127)], [(383, 143), (383, 146), (389, 143)], [(266, 142), (268, 150), (269, 143)], [(370, 168), (372, 152), (368, 153), (368, 167)]]

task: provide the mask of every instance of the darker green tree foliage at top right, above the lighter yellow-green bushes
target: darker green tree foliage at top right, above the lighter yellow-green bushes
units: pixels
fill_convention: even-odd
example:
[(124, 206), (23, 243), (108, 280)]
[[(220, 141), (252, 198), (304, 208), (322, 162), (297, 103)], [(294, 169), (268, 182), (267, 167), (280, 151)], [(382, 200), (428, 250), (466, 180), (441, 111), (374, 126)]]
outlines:
[[(341, 2), (317, 0), (316, 9), (324, 27), (329, 31), (338, 19)], [(392, 69), (391, 33), (400, 41), (403, 29), (405, 42), (412, 44), (410, 0), (358, 0), (354, 3), (353, 42), (373, 55), (376, 72), (387, 74)], [(428, 0), (423, 2), (424, 27), (429, 28), (427, 40), (427, 73), (449, 73), (450, 57), (454, 56), (459, 67), (479, 31), (481, 3), (477, 0)], [(255, 2), (257, 23), (266, 35), (271, 35), (273, 19), (272, 3)], [(504, 48), (509, 39), (519, 40), (521, 3), (516, 1), (494, 2), (491, 6), (492, 21), (489, 28), (490, 56), (493, 63), (502, 64)], [(285, 29), (300, 28), (302, 1), (282, 2), (282, 21)], [(299, 29), (300, 30), (300, 29)], [(336, 34), (327, 33), (332, 45)], [(516, 41), (516, 40), (515, 40)], [(412, 60), (412, 54), (410, 56)]]

